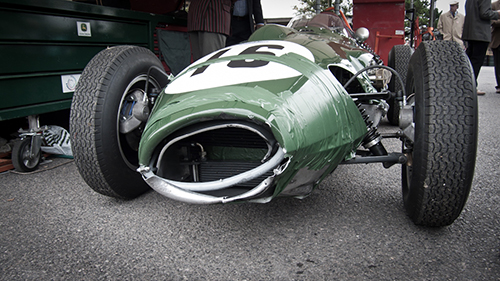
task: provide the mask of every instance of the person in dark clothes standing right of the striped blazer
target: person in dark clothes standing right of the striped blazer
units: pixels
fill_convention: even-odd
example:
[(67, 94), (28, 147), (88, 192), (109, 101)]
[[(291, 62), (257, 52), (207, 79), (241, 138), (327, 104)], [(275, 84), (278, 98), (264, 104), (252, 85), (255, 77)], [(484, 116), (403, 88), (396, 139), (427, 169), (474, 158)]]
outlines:
[(260, 0), (237, 0), (233, 5), (231, 36), (227, 39), (226, 46), (248, 40), (255, 31), (255, 26), (264, 26)]

